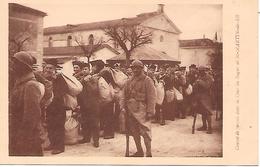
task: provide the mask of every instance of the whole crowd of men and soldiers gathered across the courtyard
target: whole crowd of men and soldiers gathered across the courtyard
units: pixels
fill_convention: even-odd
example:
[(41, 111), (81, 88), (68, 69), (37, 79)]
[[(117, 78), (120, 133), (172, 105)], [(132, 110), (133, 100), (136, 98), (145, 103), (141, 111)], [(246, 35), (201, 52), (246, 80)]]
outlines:
[[(10, 155), (42, 156), (42, 125), (48, 132), (50, 145), (44, 150), (52, 154), (65, 151), (66, 108), (64, 96), (67, 85), (57, 72), (61, 68), (57, 60), (48, 60), (42, 71), (34, 71), (36, 59), (29, 52), (19, 52), (12, 57), (10, 75), (10, 118), (9, 151)], [(73, 62), (73, 76), (82, 84), (83, 89), (77, 95), (80, 115), (79, 144), (93, 141), (99, 147), (100, 132), (104, 139), (113, 139), (115, 132), (133, 136), (137, 152), (131, 156), (143, 157), (141, 137), (146, 146), (146, 156), (151, 157), (151, 125), (165, 125), (165, 120), (185, 119), (194, 112), (202, 114), (203, 126), (197, 130), (212, 133), (212, 111), (222, 111), (222, 74), (221, 70), (196, 67), (192, 64), (188, 72), (186, 67), (178, 65), (145, 65), (134, 60), (129, 68), (115, 64), (110, 68), (122, 71), (128, 80), (122, 88), (118, 101), (100, 102), (98, 80), (102, 77), (106, 83), (117, 85), (103, 61)], [(9, 81), (10, 82), (10, 81)], [(165, 92), (161, 104), (156, 102), (158, 85)], [(181, 97), (179, 97), (179, 95)], [(178, 97), (177, 97), (178, 96)], [(123, 116), (122, 116), (123, 115)], [(125, 123), (120, 123), (124, 122)], [(126, 126), (125, 126), (126, 125)]]

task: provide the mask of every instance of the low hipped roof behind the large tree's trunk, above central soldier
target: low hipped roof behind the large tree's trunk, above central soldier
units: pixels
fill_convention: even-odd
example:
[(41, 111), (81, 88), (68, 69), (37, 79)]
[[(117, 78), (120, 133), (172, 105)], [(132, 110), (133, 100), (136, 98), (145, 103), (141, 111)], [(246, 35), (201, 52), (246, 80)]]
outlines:
[[(107, 61), (118, 62), (118, 61), (124, 61), (125, 59), (126, 59), (125, 53), (122, 53), (118, 56), (108, 59)], [(176, 63), (180, 62), (174, 57), (169, 56), (166, 53), (160, 52), (148, 46), (141, 46), (133, 50), (130, 59), (131, 60), (139, 59), (142, 61), (168, 61), (168, 62), (176, 62)]]

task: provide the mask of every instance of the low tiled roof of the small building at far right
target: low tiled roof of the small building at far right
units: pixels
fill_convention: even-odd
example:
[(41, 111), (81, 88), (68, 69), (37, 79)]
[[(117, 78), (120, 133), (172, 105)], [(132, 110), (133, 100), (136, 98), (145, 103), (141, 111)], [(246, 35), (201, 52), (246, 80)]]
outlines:
[(179, 40), (180, 47), (212, 47), (215, 46), (215, 43), (208, 39), (189, 39), (189, 40)]

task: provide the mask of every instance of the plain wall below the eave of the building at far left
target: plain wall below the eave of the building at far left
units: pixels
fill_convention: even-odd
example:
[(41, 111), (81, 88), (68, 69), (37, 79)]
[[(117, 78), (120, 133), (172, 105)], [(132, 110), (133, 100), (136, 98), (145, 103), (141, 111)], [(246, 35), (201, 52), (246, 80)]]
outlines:
[(43, 56), (43, 17), (36, 16), (22, 11), (12, 10), (9, 12), (9, 37), (22, 41), (29, 37), (18, 49), (9, 41), (9, 56), (18, 51), (32, 51), (37, 58), (37, 64), (42, 63)]

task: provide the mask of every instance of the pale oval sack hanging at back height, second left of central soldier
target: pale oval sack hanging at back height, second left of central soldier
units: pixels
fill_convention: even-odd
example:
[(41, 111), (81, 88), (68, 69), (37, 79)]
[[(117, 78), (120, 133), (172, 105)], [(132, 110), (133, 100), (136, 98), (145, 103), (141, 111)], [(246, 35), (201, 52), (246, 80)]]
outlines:
[(111, 84), (108, 84), (103, 77), (100, 77), (98, 80), (98, 89), (102, 103), (113, 101), (115, 96), (114, 88)]

